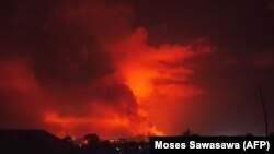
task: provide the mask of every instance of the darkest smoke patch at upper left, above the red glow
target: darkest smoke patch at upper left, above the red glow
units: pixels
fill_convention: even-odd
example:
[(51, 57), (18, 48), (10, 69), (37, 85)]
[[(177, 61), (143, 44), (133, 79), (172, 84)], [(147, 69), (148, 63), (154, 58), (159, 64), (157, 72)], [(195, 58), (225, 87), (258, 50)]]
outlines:
[[(46, 84), (84, 83), (113, 72), (111, 59), (96, 43), (100, 35), (93, 34), (95, 31), (91, 26), (102, 22), (85, 15), (95, 15), (90, 11), (92, 3), (87, 7), (89, 10), (84, 10), (90, 12), (83, 13), (81, 8), (85, 5), (81, 2), (69, 12), (68, 3), (30, 1), (19, 5), (7, 9), (12, 15), (10, 21), (4, 21), (7, 28), (2, 31), (5, 34), (1, 39), (3, 57), (30, 58), (38, 80)], [(72, 16), (66, 19), (69, 13)]]

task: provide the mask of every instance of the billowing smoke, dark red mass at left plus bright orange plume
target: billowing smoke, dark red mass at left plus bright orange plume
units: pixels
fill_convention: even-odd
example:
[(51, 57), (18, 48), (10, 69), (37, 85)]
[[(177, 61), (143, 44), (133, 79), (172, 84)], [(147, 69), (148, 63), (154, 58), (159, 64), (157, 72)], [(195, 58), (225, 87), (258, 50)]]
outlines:
[(168, 122), (169, 116), (158, 104), (204, 93), (189, 83), (195, 66), (185, 61), (214, 48), (205, 39), (149, 45), (147, 29), (133, 25), (129, 5), (18, 0), (0, 9), (0, 122), (5, 128), (104, 138), (161, 134), (167, 130), (153, 123)]

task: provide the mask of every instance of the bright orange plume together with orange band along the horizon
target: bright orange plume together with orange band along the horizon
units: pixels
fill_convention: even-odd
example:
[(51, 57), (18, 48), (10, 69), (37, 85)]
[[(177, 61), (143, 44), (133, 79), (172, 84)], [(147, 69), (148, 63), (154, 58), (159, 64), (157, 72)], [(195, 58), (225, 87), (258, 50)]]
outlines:
[[(106, 15), (112, 16), (113, 12)], [(116, 27), (119, 28), (121, 25)], [(88, 123), (89, 131), (105, 137), (169, 132), (170, 130), (162, 131), (158, 128), (169, 126), (174, 117), (167, 115), (159, 104), (171, 104), (170, 112), (174, 112), (185, 105), (182, 100), (204, 93), (189, 83), (195, 71), (184, 62), (189, 58), (210, 54), (214, 48), (204, 39), (185, 46), (165, 43), (155, 47), (147, 43), (148, 33), (144, 27), (126, 28), (113, 39), (109, 38), (109, 35), (107, 39), (101, 35), (100, 33), (100, 47), (110, 55), (115, 67), (115, 73), (111, 78), (105, 78), (102, 83), (111, 81), (125, 85), (130, 96), (123, 94), (122, 97), (130, 100), (123, 98), (113, 103), (118, 104), (114, 107), (106, 105), (112, 104), (110, 100), (92, 102), (93, 106), (88, 107), (91, 111), (85, 116), (60, 116), (56, 111), (54, 115), (46, 114), (45, 121), (59, 125), (62, 129), (69, 127), (70, 130), (76, 129), (76, 126)], [(116, 130), (122, 132), (115, 133)]]

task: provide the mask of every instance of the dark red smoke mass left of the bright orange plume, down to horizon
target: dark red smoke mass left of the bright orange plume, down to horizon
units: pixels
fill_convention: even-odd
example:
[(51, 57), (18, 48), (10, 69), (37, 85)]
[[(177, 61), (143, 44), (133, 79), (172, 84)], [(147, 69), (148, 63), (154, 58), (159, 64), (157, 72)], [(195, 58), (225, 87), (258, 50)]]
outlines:
[(115, 57), (105, 48), (132, 33), (130, 7), (96, 0), (1, 3), (4, 127), (77, 135), (81, 130), (104, 137), (115, 130), (119, 135), (152, 133), (130, 87), (115, 76)]

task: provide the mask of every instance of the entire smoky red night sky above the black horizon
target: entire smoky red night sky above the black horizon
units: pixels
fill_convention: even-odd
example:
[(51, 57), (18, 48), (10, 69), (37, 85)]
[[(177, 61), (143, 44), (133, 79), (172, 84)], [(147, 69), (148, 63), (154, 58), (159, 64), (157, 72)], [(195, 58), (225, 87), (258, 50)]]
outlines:
[(273, 0), (1, 0), (0, 128), (274, 131)]

